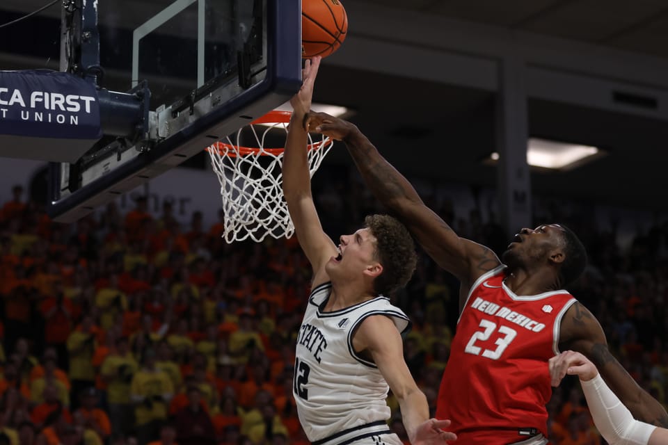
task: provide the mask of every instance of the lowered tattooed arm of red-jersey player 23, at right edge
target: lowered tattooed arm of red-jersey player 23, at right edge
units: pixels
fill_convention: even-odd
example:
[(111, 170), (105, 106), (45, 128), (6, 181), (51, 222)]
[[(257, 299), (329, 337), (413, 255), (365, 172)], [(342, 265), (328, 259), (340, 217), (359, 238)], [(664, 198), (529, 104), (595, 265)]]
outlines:
[(589, 310), (576, 302), (564, 314), (560, 350), (575, 350), (591, 360), (605, 383), (628, 407), (635, 419), (668, 427), (668, 413), (647, 391), (639, 387), (607, 347), (603, 328)]

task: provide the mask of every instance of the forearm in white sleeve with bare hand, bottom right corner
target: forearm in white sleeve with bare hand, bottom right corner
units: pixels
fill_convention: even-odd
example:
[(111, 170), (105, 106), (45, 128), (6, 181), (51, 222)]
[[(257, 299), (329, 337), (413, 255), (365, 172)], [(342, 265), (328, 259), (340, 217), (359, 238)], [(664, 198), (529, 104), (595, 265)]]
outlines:
[(552, 386), (558, 386), (565, 375), (580, 377), (594, 424), (609, 444), (668, 443), (668, 430), (633, 419), (630, 411), (605, 385), (596, 366), (584, 355), (568, 350), (550, 359)]

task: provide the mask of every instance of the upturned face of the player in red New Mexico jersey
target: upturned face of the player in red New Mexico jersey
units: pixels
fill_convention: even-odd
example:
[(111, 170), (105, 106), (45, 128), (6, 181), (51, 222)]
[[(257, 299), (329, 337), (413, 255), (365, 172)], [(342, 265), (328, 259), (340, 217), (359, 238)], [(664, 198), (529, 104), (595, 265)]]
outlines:
[(564, 229), (558, 224), (539, 225), (535, 229), (521, 229), (502, 255), (508, 266), (521, 266), (530, 261), (541, 261), (562, 243)]

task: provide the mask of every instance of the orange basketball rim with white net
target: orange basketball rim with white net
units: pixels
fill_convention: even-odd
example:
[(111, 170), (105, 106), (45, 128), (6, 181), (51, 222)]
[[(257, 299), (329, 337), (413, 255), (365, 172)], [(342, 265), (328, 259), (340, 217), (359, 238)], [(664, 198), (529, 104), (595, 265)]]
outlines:
[[(250, 237), (260, 243), (267, 236), (289, 238), (294, 225), (283, 199), (283, 148), (266, 147), (269, 139), (282, 133), (285, 141), (290, 111), (270, 111), (225, 142), (207, 147), (212, 168), (221, 184), (223, 200), (223, 238), (227, 243)], [(246, 131), (244, 131), (246, 129)], [(283, 131), (281, 131), (283, 130)], [(244, 137), (257, 147), (246, 147)], [(234, 142), (232, 141), (233, 139)], [(310, 177), (332, 147), (326, 136), (308, 134), (308, 168)]]

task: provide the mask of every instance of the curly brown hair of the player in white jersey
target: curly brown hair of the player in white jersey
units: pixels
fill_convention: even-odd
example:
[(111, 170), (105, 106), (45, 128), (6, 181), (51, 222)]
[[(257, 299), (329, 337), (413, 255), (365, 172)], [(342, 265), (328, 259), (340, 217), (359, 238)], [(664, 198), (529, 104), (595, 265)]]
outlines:
[(374, 281), (374, 291), (390, 296), (411, 280), (417, 254), (408, 229), (389, 215), (369, 215), (364, 225), (376, 238), (374, 256), (383, 265), (383, 273)]

